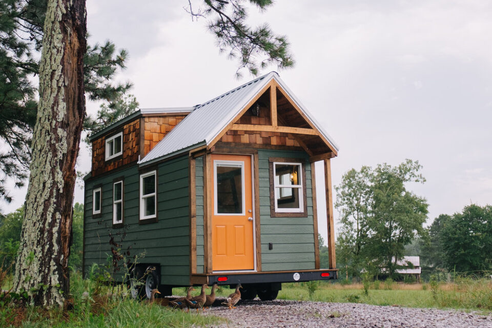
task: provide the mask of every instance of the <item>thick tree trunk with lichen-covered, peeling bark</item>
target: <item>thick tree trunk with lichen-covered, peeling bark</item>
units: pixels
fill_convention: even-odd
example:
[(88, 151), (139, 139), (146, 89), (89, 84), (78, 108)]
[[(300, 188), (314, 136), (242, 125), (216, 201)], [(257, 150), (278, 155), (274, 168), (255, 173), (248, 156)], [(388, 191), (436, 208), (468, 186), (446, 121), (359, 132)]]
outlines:
[(39, 105), (19, 253), (16, 292), (63, 305), (69, 295), (75, 162), (85, 116), (85, 0), (49, 0), (39, 68)]

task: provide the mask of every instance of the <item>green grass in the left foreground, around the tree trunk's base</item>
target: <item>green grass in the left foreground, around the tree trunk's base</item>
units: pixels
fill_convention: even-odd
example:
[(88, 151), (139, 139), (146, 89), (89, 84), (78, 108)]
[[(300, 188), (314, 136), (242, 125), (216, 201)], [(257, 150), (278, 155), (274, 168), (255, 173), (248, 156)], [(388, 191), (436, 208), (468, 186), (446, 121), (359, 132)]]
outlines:
[[(74, 309), (43, 310), (32, 306), (19, 307), (3, 304), (0, 301), (0, 327), (33, 328), (124, 328), (124, 327), (194, 327), (211, 326), (223, 319), (203, 316), (201, 313), (186, 313), (181, 310), (165, 308), (158, 304), (146, 304), (121, 296), (100, 298), (99, 302), (84, 297), (84, 292), (95, 290), (94, 282), (81, 279), (80, 274), (71, 276), (71, 293)], [(107, 287), (100, 295), (107, 295)]]

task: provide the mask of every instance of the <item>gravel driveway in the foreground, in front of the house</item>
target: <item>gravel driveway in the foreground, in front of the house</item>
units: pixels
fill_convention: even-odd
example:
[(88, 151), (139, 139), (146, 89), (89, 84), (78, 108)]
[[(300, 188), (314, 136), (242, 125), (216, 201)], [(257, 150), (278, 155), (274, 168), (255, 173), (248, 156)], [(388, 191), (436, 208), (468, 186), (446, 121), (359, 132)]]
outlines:
[(492, 315), (357, 303), (244, 301), (237, 309), (215, 306), (205, 314), (229, 320), (220, 327), (492, 328)]

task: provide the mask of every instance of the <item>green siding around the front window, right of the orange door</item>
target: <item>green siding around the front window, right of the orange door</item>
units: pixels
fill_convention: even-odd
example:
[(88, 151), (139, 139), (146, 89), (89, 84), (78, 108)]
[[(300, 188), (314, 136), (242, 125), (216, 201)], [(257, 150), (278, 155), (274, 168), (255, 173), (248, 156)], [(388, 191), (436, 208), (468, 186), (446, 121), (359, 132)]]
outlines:
[[(299, 158), (305, 169), (308, 217), (270, 216), (269, 158)], [(260, 218), (261, 218), (261, 270), (309, 270), (315, 268), (313, 192), (311, 165), (304, 152), (258, 150)], [(316, 236), (317, 237), (317, 236)], [(273, 250), (268, 243), (273, 243)]]

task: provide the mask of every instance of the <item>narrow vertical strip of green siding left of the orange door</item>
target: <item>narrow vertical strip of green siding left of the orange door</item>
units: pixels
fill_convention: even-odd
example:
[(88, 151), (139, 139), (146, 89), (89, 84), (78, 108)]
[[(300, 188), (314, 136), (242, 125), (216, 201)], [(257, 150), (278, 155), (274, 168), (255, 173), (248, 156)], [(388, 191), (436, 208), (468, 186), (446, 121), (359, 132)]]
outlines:
[(196, 184), (196, 273), (204, 271), (203, 250), (203, 156), (195, 159)]

